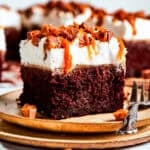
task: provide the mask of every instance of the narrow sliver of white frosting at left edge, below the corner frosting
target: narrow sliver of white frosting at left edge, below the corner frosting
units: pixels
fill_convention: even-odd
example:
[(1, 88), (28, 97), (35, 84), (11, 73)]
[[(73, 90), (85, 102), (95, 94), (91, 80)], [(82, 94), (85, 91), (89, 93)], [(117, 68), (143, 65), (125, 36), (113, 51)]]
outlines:
[(0, 27), (0, 51), (6, 51), (6, 41), (3, 27)]

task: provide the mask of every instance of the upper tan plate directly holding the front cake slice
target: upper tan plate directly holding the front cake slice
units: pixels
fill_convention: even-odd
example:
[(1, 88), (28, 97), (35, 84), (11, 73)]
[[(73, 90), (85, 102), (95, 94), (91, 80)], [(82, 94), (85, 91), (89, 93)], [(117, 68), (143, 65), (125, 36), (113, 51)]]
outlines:
[[(128, 91), (127, 89), (126, 91)], [(43, 131), (71, 133), (114, 132), (122, 126), (122, 121), (116, 121), (112, 113), (86, 115), (61, 120), (23, 117), (16, 101), (21, 92), (21, 90), (17, 90), (0, 97), (0, 118), (4, 121)], [(149, 124), (150, 109), (139, 111), (136, 126), (142, 127)]]

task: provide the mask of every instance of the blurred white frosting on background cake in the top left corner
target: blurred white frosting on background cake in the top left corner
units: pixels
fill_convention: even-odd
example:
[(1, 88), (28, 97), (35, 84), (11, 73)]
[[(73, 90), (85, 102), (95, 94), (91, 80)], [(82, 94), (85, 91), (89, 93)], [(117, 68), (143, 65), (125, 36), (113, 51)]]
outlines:
[(20, 14), (15, 10), (0, 8), (0, 26), (21, 28)]

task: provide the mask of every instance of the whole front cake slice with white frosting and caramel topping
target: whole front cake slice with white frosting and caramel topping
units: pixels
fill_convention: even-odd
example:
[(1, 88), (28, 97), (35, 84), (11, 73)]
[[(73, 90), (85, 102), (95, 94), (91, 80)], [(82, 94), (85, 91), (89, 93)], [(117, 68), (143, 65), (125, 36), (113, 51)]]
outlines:
[(102, 27), (28, 32), (20, 44), (21, 105), (53, 119), (114, 112), (124, 102), (125, 54), (123, 42)]

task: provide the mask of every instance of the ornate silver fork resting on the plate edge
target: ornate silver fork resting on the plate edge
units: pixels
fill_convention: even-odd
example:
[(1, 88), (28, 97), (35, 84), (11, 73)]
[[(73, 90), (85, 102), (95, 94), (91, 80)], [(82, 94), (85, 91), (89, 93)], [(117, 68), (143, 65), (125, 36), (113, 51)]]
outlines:
[(129, 102), (129, 112), (127, 117), (123, 120), (123, 126), (118, 131), (119, 134), (132, 134), (136, 133), (138, 129), (136, 128), (137, 113), (139, 109), (150, 107), (150, 82), (148, 85), (148, 99), (144, 98), (144, 84), (141, 85), (141, 96), (138, 102), (137, 96), (137, 83), (134, 81), (132, 86), (131, 98)]

